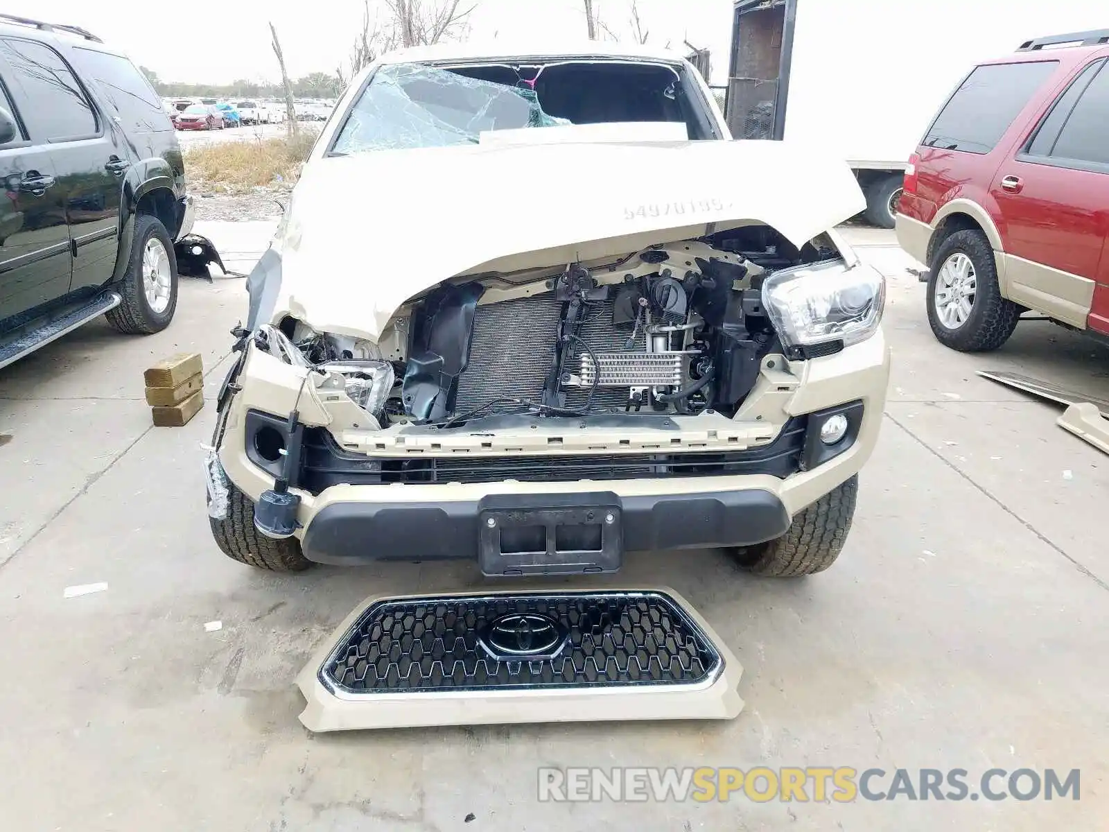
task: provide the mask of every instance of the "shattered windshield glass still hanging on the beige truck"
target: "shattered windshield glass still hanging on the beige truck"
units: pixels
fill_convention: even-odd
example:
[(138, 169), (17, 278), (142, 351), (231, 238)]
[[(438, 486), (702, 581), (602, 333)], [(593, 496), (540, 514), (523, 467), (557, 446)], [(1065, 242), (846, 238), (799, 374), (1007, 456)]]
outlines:
[(548, 115), (533, 90), (398, 63), (374, 73), (334, 153), (477, 144), (481, 132), (569, 124)]

